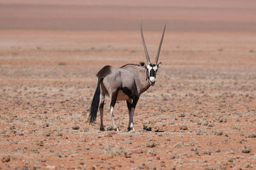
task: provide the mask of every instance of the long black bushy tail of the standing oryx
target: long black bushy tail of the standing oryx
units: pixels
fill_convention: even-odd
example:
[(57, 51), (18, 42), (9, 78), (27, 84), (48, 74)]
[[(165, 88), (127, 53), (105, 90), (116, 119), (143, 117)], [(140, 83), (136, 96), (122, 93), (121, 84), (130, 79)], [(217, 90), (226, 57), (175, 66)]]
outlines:
[(102, 80), (100, 80), (100, 79), (98, 80), (97, 88), (95, 90), (95, 94), (92, 99), (90, 115), (89, 115), (90, 124), (95, 122), (95, 120), (97, 118), (97, 111), (98, 111), (99, 102), (100, 102), (100, 81), (102, 81)]

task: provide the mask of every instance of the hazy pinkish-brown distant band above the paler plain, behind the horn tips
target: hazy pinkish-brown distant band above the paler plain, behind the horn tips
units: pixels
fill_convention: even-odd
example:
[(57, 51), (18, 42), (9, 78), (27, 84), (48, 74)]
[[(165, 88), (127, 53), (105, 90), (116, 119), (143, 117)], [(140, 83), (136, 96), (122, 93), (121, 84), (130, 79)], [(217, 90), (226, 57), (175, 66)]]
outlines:
[(2, 0), (0, 29), (256, 31), (256, 1)]

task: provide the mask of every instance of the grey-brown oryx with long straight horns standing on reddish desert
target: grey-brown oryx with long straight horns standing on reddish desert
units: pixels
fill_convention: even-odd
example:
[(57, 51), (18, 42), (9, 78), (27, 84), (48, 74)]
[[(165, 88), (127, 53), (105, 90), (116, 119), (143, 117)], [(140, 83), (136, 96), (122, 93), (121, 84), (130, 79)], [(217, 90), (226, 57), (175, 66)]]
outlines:
[(129, 124), (127, 129), (128, 131), (131, 131), (131, 129), (134, 130), (133, 116), (136, 104), (140, 98), (140, 95), (150, 86), (155, 84), (157, 69), (161, 66), (161, 62), (157, 64), (157, 60), (160, 54), (165, 28), (166, 25), (164, 25), (164, 31), (154, 63), (150, 62), (147, 47), (143, 38), (142, 25), (140, 25), (141, 39), (148, 62), (147, 65), (144, 62), (140, 62), (140, 64), (126, 64), (119, 68), (113, 66), (104, 66), (102, 69), (100, 69), (100, 71), (97, 73), (98, 83), (90, 108), (90, 124), (96, 120), (100, 101), (100, 131), (104, 131), (103, 107), (104, 99), (107, 95), (110, 97), (109, 113), (114, 129), (118, 131), (118, 127), (116, 127), (113, 116), (115, 103), (116, 101), (126, 100), (129, 110)]

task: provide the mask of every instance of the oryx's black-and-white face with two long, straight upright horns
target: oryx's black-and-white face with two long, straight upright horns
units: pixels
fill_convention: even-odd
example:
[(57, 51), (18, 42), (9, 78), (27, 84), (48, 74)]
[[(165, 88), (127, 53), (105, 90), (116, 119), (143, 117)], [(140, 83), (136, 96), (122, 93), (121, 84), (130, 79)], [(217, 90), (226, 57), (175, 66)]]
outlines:
[(166, 27), (166, 25), (164, 25), (164, 31), (163, 31), (162, 38), (161, 38), (161, 41), (160, 41), (160, 44), (159, 44), (159, 48), (158, 48), (158, 51), (157, 51), (155, 62), (151, 63), (150, 59), (149, 59), (149, 56), (148, 56), (148, 51), (147, 51), (147, 47), (146, 47), (146, 44), (145, 44), (145, 41), (144, 41), (144, 37), (143, 37), (142, 25), (141, 25), (141, 22), (140, 22), (141, 39), (142, 39), (142, 43), (143, 43), (144, 50), (145, 50), (145, 55), (146, 55), (147, 62), (148, 62), (147, 66), (145, 66), (145, 67), (147, 68), (148, 82), (149, 82), (149, 85), (151, 85), (151, 86), (155, 85), (157, 69), (161, 66), (161, 62), (159, 62), (157, 64), (157, 61), (158, 61), (158, 57), (159, 57), (159, 54), (160, 54), (160, 50), (161, 50), (161, 46), (162, 46), (162, 42), (163, 42), (163, 38), (164, 38), (165, 27)]

